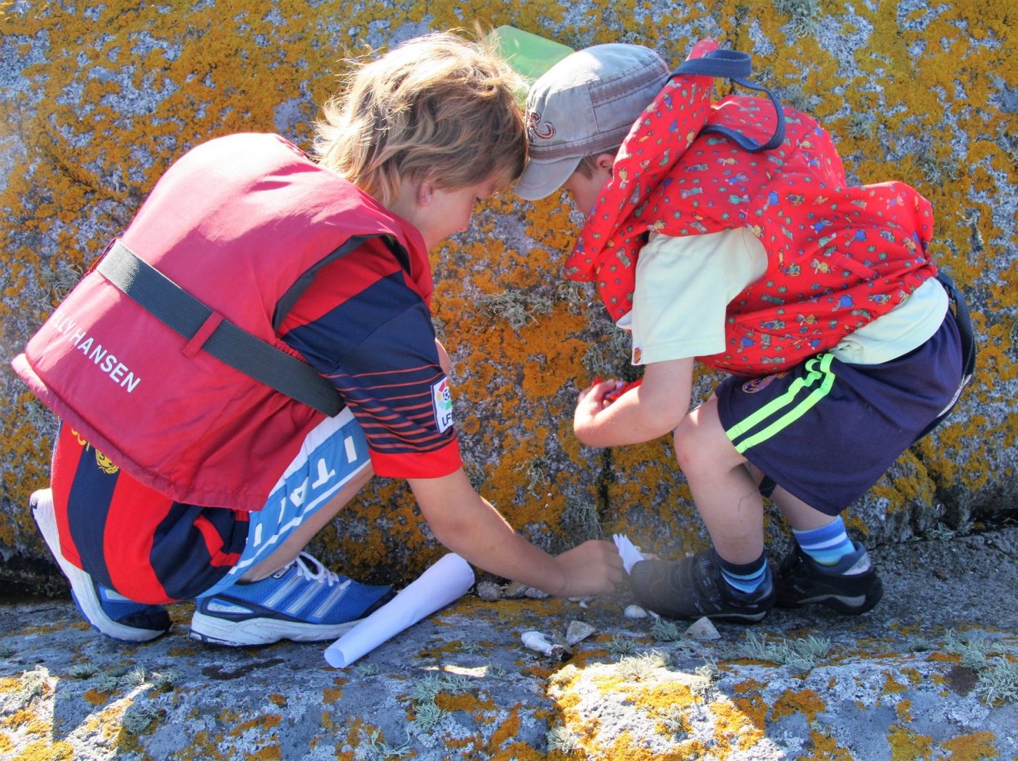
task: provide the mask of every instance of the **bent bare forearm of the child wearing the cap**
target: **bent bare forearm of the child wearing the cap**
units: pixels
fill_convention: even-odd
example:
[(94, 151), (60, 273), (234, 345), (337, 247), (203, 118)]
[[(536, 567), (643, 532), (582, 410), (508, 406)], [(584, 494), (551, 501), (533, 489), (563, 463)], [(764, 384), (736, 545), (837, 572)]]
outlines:
[(693, 358), (652, 362), (643, 383), (607, 404), (614, 382), (582, 391), (573, 416), (576, 437), (588, 447), (649, 442), (675, 429), (689, 411)]

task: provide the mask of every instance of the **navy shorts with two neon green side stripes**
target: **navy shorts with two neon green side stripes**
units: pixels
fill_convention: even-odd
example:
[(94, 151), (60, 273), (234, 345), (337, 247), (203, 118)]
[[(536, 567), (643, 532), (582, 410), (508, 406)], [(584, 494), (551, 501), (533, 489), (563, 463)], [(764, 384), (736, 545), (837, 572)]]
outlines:
[(769, 481), (827, 515), (860, 497), (956, 401), (962, 376), (951, 310), (934, 336), (882, 364), (818, 354), (785, 372), (717, 389), (721, 424)]

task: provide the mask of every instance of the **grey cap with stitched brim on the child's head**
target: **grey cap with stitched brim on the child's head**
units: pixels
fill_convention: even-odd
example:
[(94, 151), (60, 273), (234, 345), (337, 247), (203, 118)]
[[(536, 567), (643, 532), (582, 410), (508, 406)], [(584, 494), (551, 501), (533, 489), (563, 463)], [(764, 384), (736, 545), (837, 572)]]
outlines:
[(619, 145), (669, 73), (649, 48), (620, 43), (595, 45), (552, 66), (526, 99), (530, 160), (516, 194), (551, 195), (584, 156)]

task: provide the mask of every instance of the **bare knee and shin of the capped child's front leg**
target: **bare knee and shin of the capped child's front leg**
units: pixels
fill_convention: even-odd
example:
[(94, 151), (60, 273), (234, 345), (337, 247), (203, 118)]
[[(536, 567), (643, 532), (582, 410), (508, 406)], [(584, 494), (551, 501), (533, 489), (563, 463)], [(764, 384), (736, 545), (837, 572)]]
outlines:
[(675, 429), (675, 457), (715, 549), (730, 563), (764, 552), (764, 500), (748, 464), (729, 441), (712, 397)]

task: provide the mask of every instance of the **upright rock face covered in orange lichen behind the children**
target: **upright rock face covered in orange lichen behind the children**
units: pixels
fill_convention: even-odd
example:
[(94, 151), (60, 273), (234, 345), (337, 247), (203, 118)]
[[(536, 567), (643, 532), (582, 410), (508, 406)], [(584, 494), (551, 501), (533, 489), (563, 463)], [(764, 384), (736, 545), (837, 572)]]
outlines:
[[(1013, 310), (1018, 292), (1018, 264), (998, 253), (1018, 242), (1013, 220), (995, 217), (996, 196), (1018, 184), (1013, 149), (998, 136), (1018, 133), (1018, 118), (995, 100), (998, 79), (1018, 80), (1013, 14), (1006, 3), (958, 2), (907, 13), (893, 3), (855, 5), (851, 14), (825, 7), (826, 24), (857, 41), (843, 55), (814, 36), (791, 37), (786, 14), (746, 7), (726, 0), (704, 19), (698, 6), (652, 11), (644, 2), (595, 0), (580, 18), (552, 0), (501, 6), (437, 0), (410, 4), (398, 21), (444, 28), (478, 18), (570, 45), (639, 40), (672, 63), (706, 26), (726, 45), (762, 48), (754, 55), (756, 71), (789, 97), (800, 92), (830, 125), (850, 174), (863, 182), (903, 179), (930, 198), (932, 253), (963, 289), (977, 287), (986, 304), (986, 315), (973, 315), (982, 353), (962, 415), (938, 431), (939, 451), (928, 442), (918, 445), (917, 454), (900, 463), (904, 474), (883, 479), (871, 495), (886, 497), (895, 513), (932, 504), (945, 484), (984, 489), (999, 475), (997, 458), (988, 445), (972, 443), (992, 442), (1004, 451), (1018, 445), (1018, 414), (976, 415), (969, 402), (999, 409), (1007, 400), (999, 398), (1004, 385), (997, 379), (1018, 375), (1013, 320), (994, 316)], [(316, 3), (285, 0), (273, 9), (241, 3), (224, 14), (200, 4), (185, 14), (172, 4), (100, 4), (84, 23), (71, 6), (43, 4), (30, 12), (3, 5), (0, 31), (21, 59), (19, 86), (0, 104), (0, 136), (14, 147), (0, 190), (8, 221), (0, 231), (7, 252), (0, 324), (19, 320), (4, 334), (5, 345), (23, 343), (21, 333), (51, 310), (73, 273), (124, 228), (184, 150), (241, 130), (282, 130), (307, 147), (316, 104), (345, 70), (342, 59), (362, 46), (366, 30), (398, 25), (381, 2), (347, 9), (338, 25)], [(769, 45), (748, 39), (750, 23), (753, 39)], [(42, 41), (45, 55), (38, 55)], [(920, 84), (900, 85), (912, 80)], [(728, 89), (718, 83), (719, 93)], [(292, 118), (284, 118), (284, 104)], [(853, 129), (856, 115), (869, 119), (868, 133)], [(959, 139), (943, 139), (945, 133)], [(964, 171), (952, 172), (952, 163)], [(517, 238), (502, 234), (507, 219), (521, 222)], [(589, 327), (592, 309), (550, 285), (562, 280), (575, 222), (557, 194), (525, 204), (506, 193), (482, 204), (468, 234), (433, 253), (434, 311), (453, 350), (467, 465), (484, 473), (485, 493), (524, 533), (571, 540), (562, 525), (570, 493), (591, 499), (608, 532), (632, 530), (638, 543), (698, 549), (706, 536), (667, 440), (591, 454), (572, 435), (574, 391), (589, 380), (584, 354), (591, 345), (609, 352)], [(480, 303), (506, 293), (522, 294), (530, 307), (518, 329)], [(627, 357), (608, 359), (632, 371)], [(9, 445), (0, 482), (13, 505), (24, 505), (46, 483), (51, 445), (40, 435), (38, 421), (45, 418), (38, 403), (20, 388), (0, 409), (0, 435)], [(968, 461), (956, 465), (958, 458), (948, 455), (963, 450)], [(526, 466), (542, 457), (558, 470), (531, 488)], [(318, 543), (326, 554), (341, 557), (349, 573), (405, 580), (440, 553), (419, 521), (405, 487), (380, 483), (338, 521), (366, 526), (365, 534), (332, 527)], [(862, 535), (878, 528), (871, 517), (855, 515), (849, 525)], [(3, 517), (0, 545), (43, 551), (26, 511)]]

